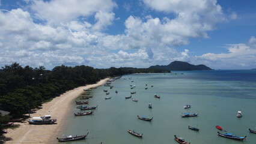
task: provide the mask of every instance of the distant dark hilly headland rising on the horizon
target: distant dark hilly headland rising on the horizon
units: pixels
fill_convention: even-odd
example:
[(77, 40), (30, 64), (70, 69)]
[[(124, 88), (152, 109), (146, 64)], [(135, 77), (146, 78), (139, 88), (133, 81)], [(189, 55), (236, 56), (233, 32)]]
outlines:
[(154, 65), (149, 68), (159, 68), (163, 70), (170, 71), (190, 71), (190, 70), (212, 70), (212, 68), (207, 67), (206, 65), (192, 65), (187, 62), (174, 61), (169, 65)]

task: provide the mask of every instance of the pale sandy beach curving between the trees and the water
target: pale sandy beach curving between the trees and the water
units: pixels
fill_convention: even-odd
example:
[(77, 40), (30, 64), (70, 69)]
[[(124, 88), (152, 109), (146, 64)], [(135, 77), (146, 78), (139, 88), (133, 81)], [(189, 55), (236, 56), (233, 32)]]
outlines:
[(65, 116), (69, 112), (69, 107), (74, 103), (74, 99), (80, 95), (84, 89), (103, 85), (109, 78), (100, 80), (100, 82), (93, 85), (81, 86), (54, 98), (49, 103), (43, 104), (43, 109), (37, 110), (30, 116), (44, 116), (51, 115), (53, 119), (57, 119), (55, 125), (30, 125), (28, 122), (17, 123), (20, 124), (19, 128), (14, 130), (8, 129), (8, 133), (4, 134), (5, 137), (11, 140), (5, 143), (57, 143), (56, 137), (64, 124)]

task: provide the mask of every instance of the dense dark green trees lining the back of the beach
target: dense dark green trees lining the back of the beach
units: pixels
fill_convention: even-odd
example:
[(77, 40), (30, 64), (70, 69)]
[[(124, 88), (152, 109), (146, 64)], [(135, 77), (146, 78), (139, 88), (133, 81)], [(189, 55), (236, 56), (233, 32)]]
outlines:
[(156, 68), (97, 69), (85, 65), (76, 67), (61, 65), (49, 71), (44, 67), (22, 67), (14, 62), (5, 65), (0, 71), (0, 109), (10, 112), (13, 118), (19, 118), (65, 91), (96, 83), (105, 77), (162, 72), (168, 71)]

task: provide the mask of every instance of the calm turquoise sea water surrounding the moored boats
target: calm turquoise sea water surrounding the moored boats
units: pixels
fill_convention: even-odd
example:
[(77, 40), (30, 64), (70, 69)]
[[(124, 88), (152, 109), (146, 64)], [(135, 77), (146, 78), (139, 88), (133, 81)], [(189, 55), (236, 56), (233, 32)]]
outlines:
[[(67, 116), (67, 124), (59, 136), (89, 132), (87, 139), (67, 143), (177, 143), (174, 134), (191, 144), (256, 142), (256, 134), (248, 130), (256, 130), (256, 71), (174, 73), (177, 74), (131, 74), (112, 82), (112, 89), (106, 86), (93, 89), (94, 97), (90, 98), (89, 105), (98, 105), (94, 115), (73, 116), (73, 113), (79, 112), (74, 101), (70, 115)], [(129, 80), (129, 77), (132, 79)], [(136, 87), (130, 89), (130, 85)], [(106, 95), (103, 89), (108, 89), (110, 94)], [(130, 96), (132, 91), (136, 91), (132, 97), (138, 99), (138, 102), (124, 98)], [(161, 98), (154, 98), (154, 94)], [(105, 100), (105, 97), (112, 99)], [(152, 103), (153, 109), (148, 109), (148, 103)], [(184, 109), (185, 104), (190, 104), (191, 108)], [(242, 110), (242, 118), (236, 117), (238, 110)], [(185, 112), (198, 112), (199, 115), (181, 118)], [(153, 117), (153, 121), (142, 121), (137, 115)], [(189, 130), (188, 125), (200, 128), (200, 131)], [(220, 125), (228, 133), (247, 138), (240, 142), (220, 137), (215, 125)], [(143, 133), (143, 138), (132, 136), (127, 130)]]

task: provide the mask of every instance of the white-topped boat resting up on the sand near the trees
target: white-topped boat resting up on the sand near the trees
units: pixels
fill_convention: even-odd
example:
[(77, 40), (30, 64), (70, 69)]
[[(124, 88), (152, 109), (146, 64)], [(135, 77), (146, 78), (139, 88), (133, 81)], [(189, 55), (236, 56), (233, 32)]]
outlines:
[(50, 119), (50, 115), (45, 115), (42, 117), (33, 117), (32, 119), (28, 120), (29, 124), (34, 125), (43, 125), (43, 124), (55, 124), (57, 119)]

